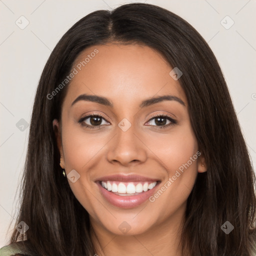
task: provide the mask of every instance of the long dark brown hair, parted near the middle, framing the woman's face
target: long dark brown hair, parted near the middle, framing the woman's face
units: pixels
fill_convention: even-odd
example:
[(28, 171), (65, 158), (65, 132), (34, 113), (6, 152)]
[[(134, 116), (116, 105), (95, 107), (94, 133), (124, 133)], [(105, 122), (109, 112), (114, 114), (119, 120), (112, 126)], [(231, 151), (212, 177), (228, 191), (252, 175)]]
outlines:
[[(192, 256), (249, 256), (255, 242), (255, 175), (228, 88), (211, 49), (176, 14), (152, 4), (124, 4), (97, 10), (77, 21), (59, 40), (42, 71), (34, 99), (17, 222), (10, 242), (27, 240), (38, 255), (93, 255), (86, 209), (73, 195), (59, 166), (52, 120), (60, 118), (65, 85), (74, 59), (86, 47), (117, 41), (142, 43), (178, 67), (190, 122), (207, 171), (198, 173), (187, 199), (183, 248)], [(234, 229), (225, 234), (221, 225)]]

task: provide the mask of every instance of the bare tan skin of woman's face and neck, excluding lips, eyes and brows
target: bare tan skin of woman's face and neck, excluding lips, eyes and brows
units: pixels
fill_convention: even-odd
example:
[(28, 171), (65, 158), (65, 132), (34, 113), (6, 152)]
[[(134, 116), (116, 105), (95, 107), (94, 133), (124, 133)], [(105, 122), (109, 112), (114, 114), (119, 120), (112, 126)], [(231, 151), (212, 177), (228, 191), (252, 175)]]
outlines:
[[(132, 173), (166, 183), (198, 151), (185, 93), (178, 80), (169, 75), (172, 67), (160, 53), (147, 46), (94, 45), (79, 54), (73, 67), (95, 48), (99, 52), (68, 85), (61, 121), (53, 121), (57, 127), (61, 167), (66, 174), (72, 169), (80, 174), (76, 182), (69, 179), (68, 182), (89, 213), (95, 253), (99, 256), (180, 256), (178, 242), (186, 200), (197, 173), (206, 171), (202, 155), (154, 202), (146, 200), (129, 209), (108, 203), (94, 180), (103, 175)], [(71, 106), (83, 93), (107, 97), (113, 107), (85, 100)], [(142, 100), (165, 94), (180, 98), (185, 106), (175, 100), (164, 100), (139, 107)], [(90, 129), (78, 123), (81, 117), (93, 112), (103, 115), (101, 126)], [(167, 114), (177, 120), (177, 124), (166, 126), (170, 121), (164, 119), (166, 127), (159, 128), (157, 120), (151, 118), (154, 114)], [(131, 124), (125, 132), (118, 127), (123, 118)], [(90, 120), (87, 118), (84, 122), (92, 125)], [(130, 226), (126, 234), (118, 228), (123, 221)]]

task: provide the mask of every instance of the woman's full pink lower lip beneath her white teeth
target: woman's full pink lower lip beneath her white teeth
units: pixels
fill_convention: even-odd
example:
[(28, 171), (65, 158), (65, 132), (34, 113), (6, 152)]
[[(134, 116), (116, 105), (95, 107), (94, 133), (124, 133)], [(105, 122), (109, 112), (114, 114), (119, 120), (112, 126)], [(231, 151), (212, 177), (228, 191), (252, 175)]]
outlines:
[(99, 182), (96, 183), (103, 197), (114, 206), (120, 208), (133, 208), (140, 205), (154, 193), (155, 189), (159, 185), (159, 183), (157, 183), (152, 189), (149, 189), (145, 192), (141, 192), (136, 195), (118, 195), (103, 188)]

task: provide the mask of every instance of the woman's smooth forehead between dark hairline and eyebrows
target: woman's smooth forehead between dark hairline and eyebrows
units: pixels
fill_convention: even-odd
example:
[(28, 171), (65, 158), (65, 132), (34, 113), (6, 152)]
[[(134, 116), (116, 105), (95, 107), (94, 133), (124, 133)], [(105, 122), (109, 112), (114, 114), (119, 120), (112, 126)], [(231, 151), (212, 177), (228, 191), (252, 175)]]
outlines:
[(83, 93), (110, 98), (116, 107), (166, 93), (186, 103), (178, 80), (169, 75), (172, 67), (148, 46), (93, 45), (78, 55), (72, 69), (76, 74), (68, 85), (65, 101), (69, 104)]

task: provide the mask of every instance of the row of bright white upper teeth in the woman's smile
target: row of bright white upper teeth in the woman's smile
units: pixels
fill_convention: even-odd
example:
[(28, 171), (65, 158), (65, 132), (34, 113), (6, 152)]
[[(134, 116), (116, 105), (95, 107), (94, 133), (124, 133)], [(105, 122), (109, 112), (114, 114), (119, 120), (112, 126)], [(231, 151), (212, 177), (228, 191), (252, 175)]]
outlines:
[(128, 182), (125, 185), (119, 181), (101, 181), (101, 186), (107, 189), (108, 191), (118, 192), (124, 194), (134, 194), (134, 193), (141, 193), (143, 191), (147, 191), (148, 189), (152, 189), (156, 185), (156, 181), (149, 183), (137, 183), (134, 185), (133, 182)]

